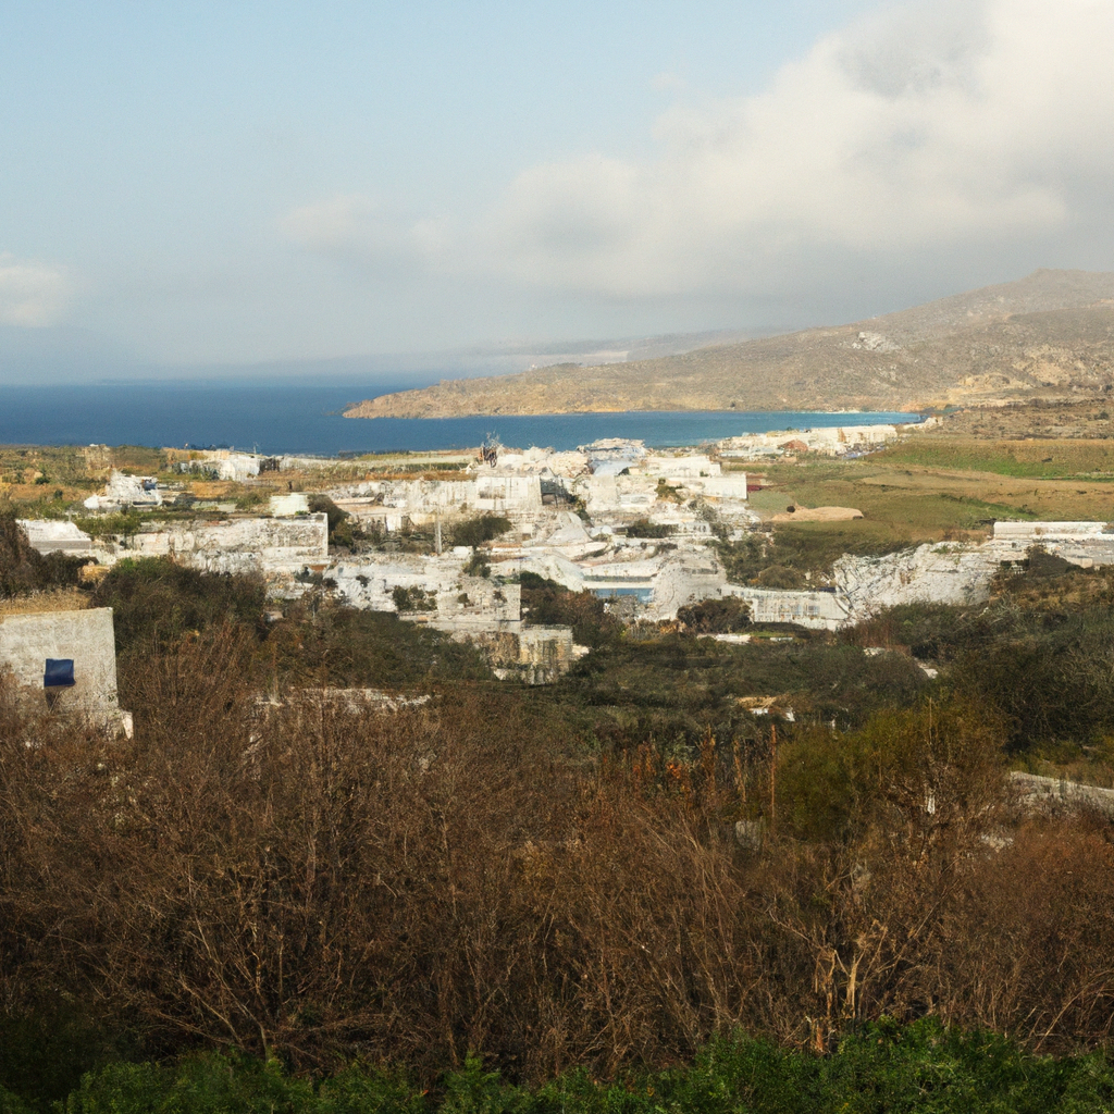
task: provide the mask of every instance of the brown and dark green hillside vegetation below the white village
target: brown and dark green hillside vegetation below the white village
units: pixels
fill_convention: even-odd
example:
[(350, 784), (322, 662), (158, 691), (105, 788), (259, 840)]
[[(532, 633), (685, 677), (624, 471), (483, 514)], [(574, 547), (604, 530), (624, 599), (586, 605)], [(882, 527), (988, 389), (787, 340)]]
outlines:
[[(135, 739), (0, 685), (0, 1086), (41, 1104), (88, 1069), (232, 1049), (296, 1073), (404, 1067), (416, 1089), (389, 1108), (407, 1111), (532, 1110), (582, 1069), (618, 1081), (559, 1084), (600, 1110), (635, 1079), (681, 1103), (683, 1075), (645, 1073), (740, 1055), (769, 1082), (730, 1108), (804, 1110), (824, 1107), (769, 1095), (792, 1078), (846, 1102), (858, 1048), (879, 1087), (936, 1064), (989, 1092), (1048, 1072), (1040, 1102), (1058, 1102), (1055, 1081), (1105, 1061), (970, 1075), (962, 1047), (1020, 1054), (913, 1023), (1110, 1045), (1114, 829), (1022, 812), (1005, 773), (1114, 780), (1112, 580), (1035, 559), (987, 608), (730, 645), (624, 628), (535, 579), (528, 606), (594, 649), (530, 690), (324, 593), (278, 618), (252, 578), (121, 563), (88, 590), (116, 614)], [(325, 685), (430, 698), (274, 700)], [(888, 1017), (912, 1028), (862, 1028)], [(765, 1043), (702, 1053), (740, 1028)], [(482, 1083), (480, 1061), (541, 1089)], [(255, 1087), (252, 1063), (221, 1077)], [(70, 1108), (194, 1108), (175, 1071), (105, 1068)], [(458, 1086), (487, 1105), (453, 1105)]]

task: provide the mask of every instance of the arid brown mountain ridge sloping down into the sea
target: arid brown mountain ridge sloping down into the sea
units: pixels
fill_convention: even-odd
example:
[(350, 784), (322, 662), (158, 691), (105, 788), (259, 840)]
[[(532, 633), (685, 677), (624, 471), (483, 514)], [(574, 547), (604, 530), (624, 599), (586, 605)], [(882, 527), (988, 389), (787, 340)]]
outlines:
[(1114, 273), (1017, 282), (831, 328), (596, 367), (443, 380), (349, 418), (624, 410), (900, 410), (1114, 389)]

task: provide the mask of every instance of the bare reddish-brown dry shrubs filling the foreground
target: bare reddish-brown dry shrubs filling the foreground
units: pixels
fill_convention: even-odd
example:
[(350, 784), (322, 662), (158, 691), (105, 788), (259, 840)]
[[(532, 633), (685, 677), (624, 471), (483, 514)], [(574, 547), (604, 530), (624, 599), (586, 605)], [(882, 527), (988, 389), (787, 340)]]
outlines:
[(466, 686), (264, 714), (236, 638), (154, 655), (130, 744), (0, 695), (12, 1007), (65, 987), (148, 1046), (427, 1078), (469, 1049), (531, 1079), (664, 1064), (731, 1026), (824, 1047), (880, 1014), (1108, 1036), (1108, 832), (1012, 819), (969, 711), (843, 739), (827, 831), (783, 749), (747, 851), (771, 771), (743, 784), (711, 737), (586, 763), (525, 694)]

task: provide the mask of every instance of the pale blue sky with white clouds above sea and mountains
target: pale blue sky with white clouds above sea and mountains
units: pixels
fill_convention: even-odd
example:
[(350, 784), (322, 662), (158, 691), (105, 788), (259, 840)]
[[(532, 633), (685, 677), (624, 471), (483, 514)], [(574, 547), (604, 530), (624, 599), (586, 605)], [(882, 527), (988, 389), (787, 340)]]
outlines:
[(1114, 0), (0, 0), (0, 28), (9, 353), (801, 328), (1114, 270)]

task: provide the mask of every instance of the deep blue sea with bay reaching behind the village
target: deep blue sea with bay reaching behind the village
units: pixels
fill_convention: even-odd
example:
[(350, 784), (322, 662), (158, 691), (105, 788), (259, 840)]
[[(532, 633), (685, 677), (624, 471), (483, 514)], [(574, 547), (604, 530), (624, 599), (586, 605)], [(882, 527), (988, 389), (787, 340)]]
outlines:
[[(409, 384), (413, 385), (413, 384)], [(654, 448), (700, 444), (740, 433), (915, 421), (903, 413), (639, 411), (532, 418), (344, 418), (381, 383), (144, 382), (0, 387), (0, 443), (146, 444), (235, 448), (265, 453), (465, 449), (488, 434), (515, 448), (573, 449), (602, 437)]]

